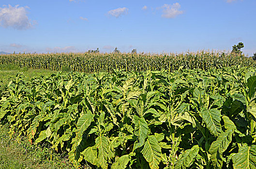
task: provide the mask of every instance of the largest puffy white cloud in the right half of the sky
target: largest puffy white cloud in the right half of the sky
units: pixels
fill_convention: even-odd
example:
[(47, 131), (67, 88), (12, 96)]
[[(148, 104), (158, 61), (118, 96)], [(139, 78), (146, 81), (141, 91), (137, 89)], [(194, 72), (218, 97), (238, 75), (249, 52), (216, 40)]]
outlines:
[(174, 4), (164, 4), (164, 6), (162, 6), (162, 9), (163, 9), (162, 17), (174, 18), (179, 14), (183, 14), (183, 11), (179, 11), (180, 8), (181, 8), (181, 5), (178, 2)]

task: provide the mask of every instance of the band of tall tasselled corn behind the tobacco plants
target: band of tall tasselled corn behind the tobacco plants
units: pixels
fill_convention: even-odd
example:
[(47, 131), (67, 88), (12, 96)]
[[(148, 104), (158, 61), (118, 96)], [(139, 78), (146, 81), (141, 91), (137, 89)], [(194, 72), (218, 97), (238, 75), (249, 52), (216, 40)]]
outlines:
[(72, 71), (99, 72), (114, 70), (145, 71), (145, 70), (167, 70), (172, 72), (183, 69), (211, 68), (221, 69), (231, 66), (251, 66), (256, 63), (245, 56), (234, 53), (185, 53), (185, 54), (121, 54), (118, 52), (110, 54), (100, 53), (77, 53), (77, 54), (15, 54), (0, 56), (0, 65), (19, 65), (30, 69), (61, 70), (63, 65)]

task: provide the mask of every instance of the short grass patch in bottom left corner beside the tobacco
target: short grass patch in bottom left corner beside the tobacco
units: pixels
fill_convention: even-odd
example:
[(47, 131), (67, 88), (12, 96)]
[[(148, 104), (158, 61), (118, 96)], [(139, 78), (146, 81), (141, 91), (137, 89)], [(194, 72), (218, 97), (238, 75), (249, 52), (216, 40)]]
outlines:
[(0, 125), (0, 169), (74, 169), (67, 156), (30, 144), (25, 137), (12, 137)]

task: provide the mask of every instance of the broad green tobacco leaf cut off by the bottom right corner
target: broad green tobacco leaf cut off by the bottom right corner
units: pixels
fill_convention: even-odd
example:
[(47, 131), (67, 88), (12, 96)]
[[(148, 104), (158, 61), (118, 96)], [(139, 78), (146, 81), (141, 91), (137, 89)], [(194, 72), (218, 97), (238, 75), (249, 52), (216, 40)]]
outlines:
[(256, 145), (243, 145), (232, 160), (234, 169), (256, 169)]

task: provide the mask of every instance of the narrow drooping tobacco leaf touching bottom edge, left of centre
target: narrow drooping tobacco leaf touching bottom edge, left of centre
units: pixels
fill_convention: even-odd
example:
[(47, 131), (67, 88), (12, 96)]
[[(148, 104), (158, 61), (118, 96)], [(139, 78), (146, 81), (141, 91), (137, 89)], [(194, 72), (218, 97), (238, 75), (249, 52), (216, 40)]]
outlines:
[(98, 148), (98, 163), (101, 166), (101, 168), (107, 169), (107, 138), (105, 136), (99, 136), (96, 138), (95, 143)]

